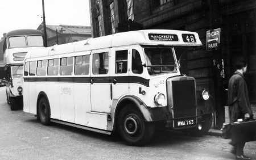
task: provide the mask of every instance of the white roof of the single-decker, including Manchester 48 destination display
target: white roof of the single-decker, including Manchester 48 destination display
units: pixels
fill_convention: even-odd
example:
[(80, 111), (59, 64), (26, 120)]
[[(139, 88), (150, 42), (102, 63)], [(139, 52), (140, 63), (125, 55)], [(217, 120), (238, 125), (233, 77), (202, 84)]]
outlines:
[[(187, 37), (189, 36), (189, 37)], [(192, 39), (191, 39), (192, 36)], [(187, 39), (189, 38), (189, 39)], [(191, 41), (192, 40), (192, 41)], [(167, 45), (167, 46), (200, 46), (202, 45), (199, 35), (196, 32), (177, 31), (177, 30), (140, 30), (115, 33), (113, 35), (97, 37), (67, 43), (54, 45), (42, 50), (34, 50), (27, 54), (26, 58), (53, 56), (55, 54), (80, 52), (85, 50), (121, 47), (127, 45)]]

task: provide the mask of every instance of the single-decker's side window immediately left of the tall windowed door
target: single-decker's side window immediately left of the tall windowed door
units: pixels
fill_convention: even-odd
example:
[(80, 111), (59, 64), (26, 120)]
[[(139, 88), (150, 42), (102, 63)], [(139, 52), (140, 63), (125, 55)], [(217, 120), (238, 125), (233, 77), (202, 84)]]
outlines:
[(76, 56), (75, 57), (75, 75), (88, 75), (89, 61), (90, 61), (89, 55)]

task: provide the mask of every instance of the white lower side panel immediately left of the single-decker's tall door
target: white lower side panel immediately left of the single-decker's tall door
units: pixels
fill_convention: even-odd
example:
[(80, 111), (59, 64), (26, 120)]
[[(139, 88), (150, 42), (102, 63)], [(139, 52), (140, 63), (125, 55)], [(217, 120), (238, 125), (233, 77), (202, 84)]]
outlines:
[(86, 112), (90, 112), (90, 83), (75, 83), (73, 89), (75, 123), (86, 125)]

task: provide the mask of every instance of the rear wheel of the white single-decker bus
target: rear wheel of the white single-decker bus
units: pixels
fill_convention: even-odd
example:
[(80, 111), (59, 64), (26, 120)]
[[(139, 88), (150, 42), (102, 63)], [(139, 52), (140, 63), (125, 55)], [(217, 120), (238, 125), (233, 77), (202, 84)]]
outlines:
[(51, 121), (51, 110), (49, 107), (49, 102), (46, 98), (41, 98), (39, 100), (39, 119), (42, 124), (49, 125)]

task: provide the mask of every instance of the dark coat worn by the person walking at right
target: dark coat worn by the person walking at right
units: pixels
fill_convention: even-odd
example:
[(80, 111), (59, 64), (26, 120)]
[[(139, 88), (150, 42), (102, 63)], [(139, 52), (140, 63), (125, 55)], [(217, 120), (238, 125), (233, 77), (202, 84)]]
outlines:
[(245, 78), (238, 71), (229, 79), (228, 103), (230, 106), (231, 122), (237, 121), (237, 119), (243, 119), (245, 113), (253, 116)]

